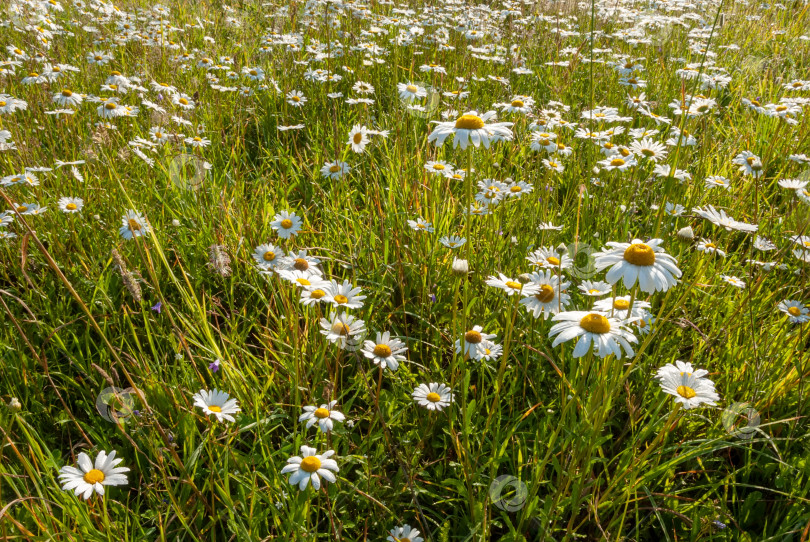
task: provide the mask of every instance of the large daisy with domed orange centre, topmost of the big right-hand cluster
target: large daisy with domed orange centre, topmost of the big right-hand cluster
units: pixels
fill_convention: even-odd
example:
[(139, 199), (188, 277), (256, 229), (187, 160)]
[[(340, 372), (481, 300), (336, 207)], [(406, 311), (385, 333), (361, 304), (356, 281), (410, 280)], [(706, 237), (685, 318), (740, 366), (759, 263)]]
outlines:
[(678, 283), (681, 270), (675, 265), (675, 258), (659, 246), (661, 242), (661, 239), (646, 243), (640, 239), (633, 239), (632, 243), (609, 242), (609, 250), (594, 254), (596, 270), (610, 267), (605, 279), (611, 284), (624, 279), (624, 287), (628, 289), (638, 283), (642, 292), (666, 292)]

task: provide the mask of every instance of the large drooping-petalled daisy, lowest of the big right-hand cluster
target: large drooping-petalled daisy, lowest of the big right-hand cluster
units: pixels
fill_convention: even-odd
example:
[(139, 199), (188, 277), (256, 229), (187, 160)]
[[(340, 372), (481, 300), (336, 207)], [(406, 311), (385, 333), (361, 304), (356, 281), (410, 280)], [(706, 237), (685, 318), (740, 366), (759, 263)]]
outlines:
[(561, 312), (552, 318), (559, 322), (552, 326), (549, 338), (555, 337), (552, 347), (576, 338), (574, 358), (581, 358), (591, 350), (600, 358), (614, 354), (622, 357), (622, 350), (628, 357), (632, 357), (633, 347), (630, 343), (637, 342), (635, 335), (619, 320), (598, 312), (569, 311)]

